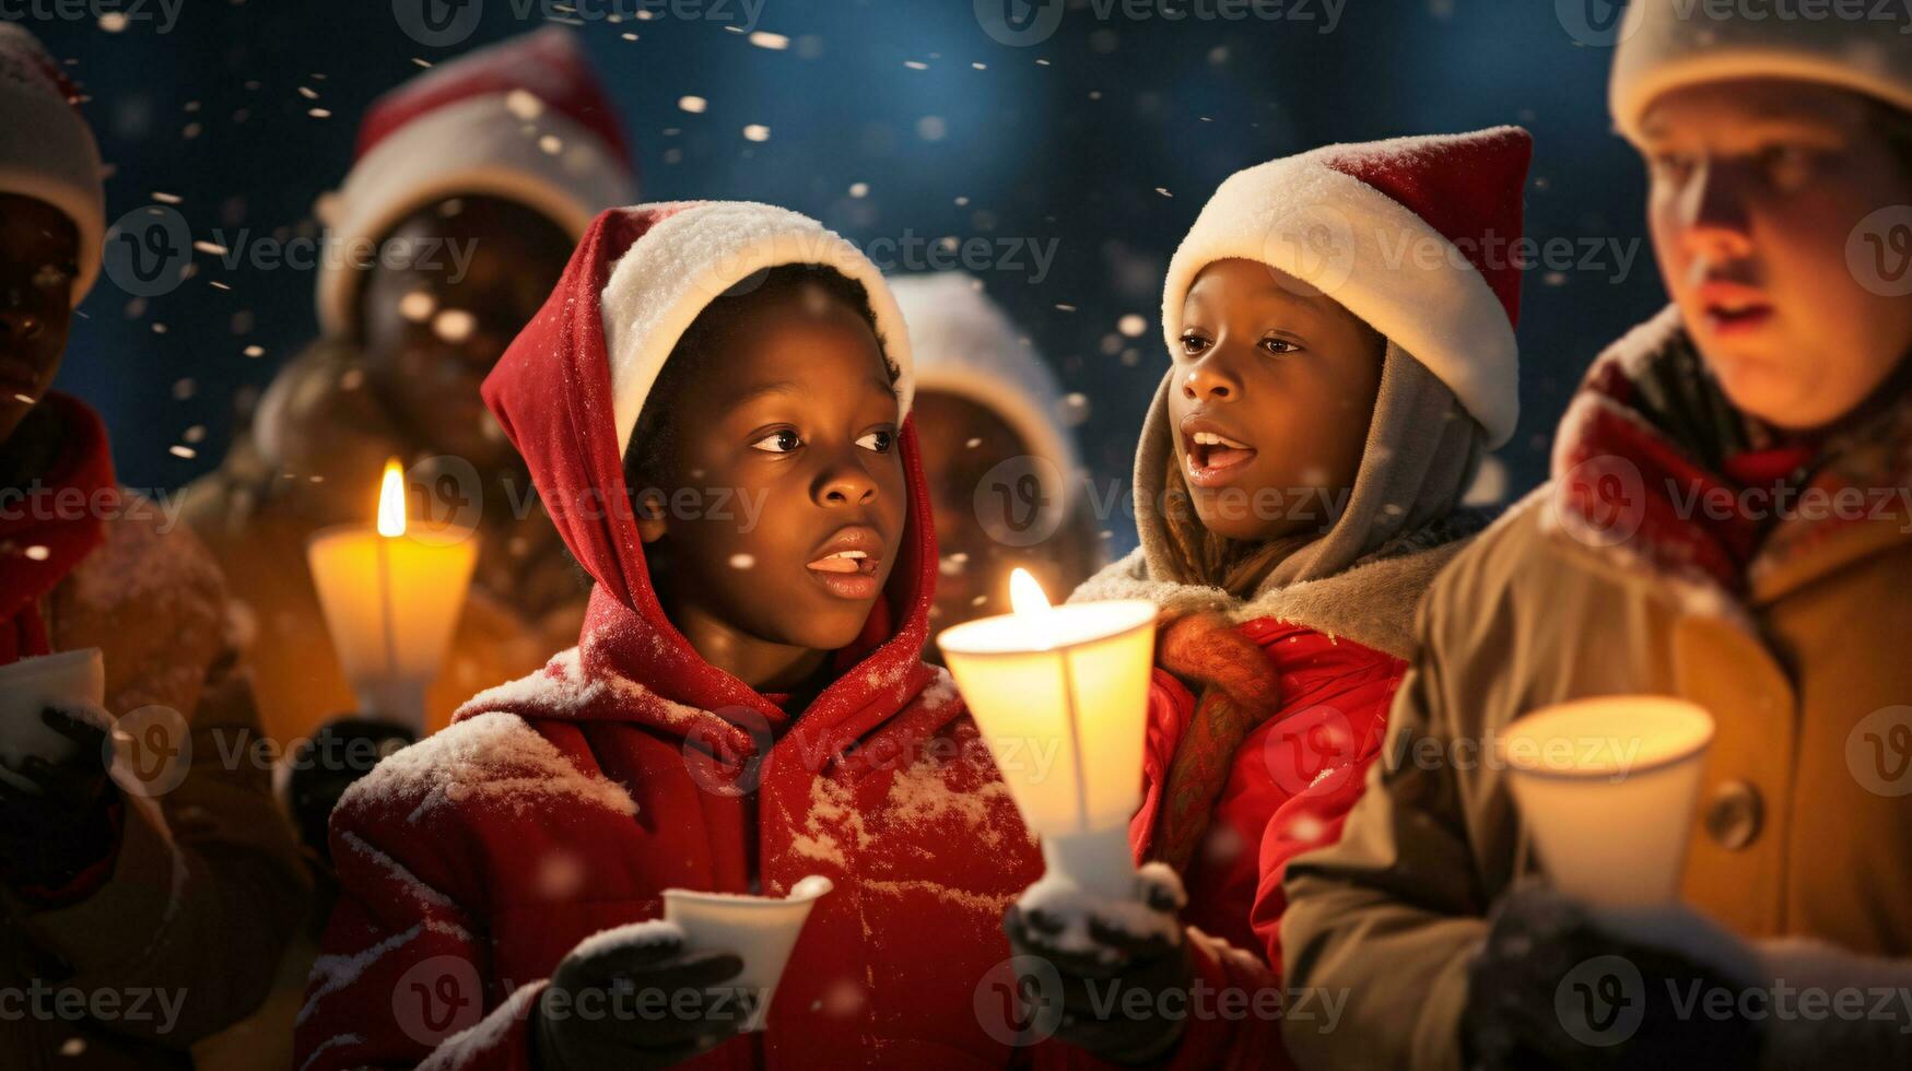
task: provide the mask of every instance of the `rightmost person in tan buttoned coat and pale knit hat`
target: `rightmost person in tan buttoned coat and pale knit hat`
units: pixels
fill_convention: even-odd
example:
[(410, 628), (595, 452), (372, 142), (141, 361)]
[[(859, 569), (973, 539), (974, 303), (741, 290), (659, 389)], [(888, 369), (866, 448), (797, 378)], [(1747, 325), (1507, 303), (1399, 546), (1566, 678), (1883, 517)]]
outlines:
[(1306, 1065), (1912, 1065), (1912, 48), (1769, 15), (1629, 6), (1610, 103), (1673, 302), (1428, 595), (1388, 748), (1698, 704), (1686, 907), (1524, 885), (1545, 859), (1493, 763), (1390, 765), (1289, 868), (1291, 981), (1352, 994), (1291, 1025)]

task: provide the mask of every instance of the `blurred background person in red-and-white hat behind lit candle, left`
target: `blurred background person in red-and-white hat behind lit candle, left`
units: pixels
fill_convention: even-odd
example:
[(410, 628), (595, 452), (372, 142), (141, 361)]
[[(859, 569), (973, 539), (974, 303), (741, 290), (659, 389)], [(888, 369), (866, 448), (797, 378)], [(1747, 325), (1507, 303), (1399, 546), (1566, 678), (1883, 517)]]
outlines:
[[(576, 639), (585, 585), (478, 384), (551, 293), (585, 224), (635, 195), (616, 115), (562, 27), (444, 63), (365, 113), (352, 172), (317, 205), (321, 339), (266, 388), (220, 469), (185, 493), (187, 522), (250, 608), (247, 658), (281, 742), (356, 708), (306, 539), (373, 516), (386, 457), (407, 465), (413, 492), (426, 490), (423, 520), (482, 539), (426, 696), (426, 731)], [(421, 513), (417, 493), (411, 511)]]

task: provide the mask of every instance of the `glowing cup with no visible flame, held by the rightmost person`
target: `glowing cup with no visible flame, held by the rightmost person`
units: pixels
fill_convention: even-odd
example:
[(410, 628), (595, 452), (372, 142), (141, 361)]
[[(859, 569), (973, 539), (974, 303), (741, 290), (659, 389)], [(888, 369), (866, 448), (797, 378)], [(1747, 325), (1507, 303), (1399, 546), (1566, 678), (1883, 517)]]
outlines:
[(1671, 696), (1600, 696), (1514, 721), (1497, 742), (1553, 884), (1598, 907), (1679, 899), (1713, 717)]

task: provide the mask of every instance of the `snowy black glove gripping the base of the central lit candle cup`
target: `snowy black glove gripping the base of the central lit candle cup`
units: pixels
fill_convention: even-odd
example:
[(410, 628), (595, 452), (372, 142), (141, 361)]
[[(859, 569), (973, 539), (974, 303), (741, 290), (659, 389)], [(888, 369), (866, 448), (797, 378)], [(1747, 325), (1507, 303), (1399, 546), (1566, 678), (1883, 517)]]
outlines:
[[(1172, 1050), (1195, 981), (1176, 914), (1187, 897), (1174, 870), (1143, 866), (1140, 905), (1109, 905), (1082, 891), (1054, 897), (1046, 893), (1069, 887), (1048, 882), (1031, 885), (1002, 918), (1010, 949), (1021, 958), (1017, 989), (1034, 1004), (1032, 1021), (1052, 1023), (1055, 1038), (1109, 1063), (1147, 1063)], [(1138, 907), (1157, 916), (1147, 935), (1115, 920), (1115, 910)], [(1094, 949), (1080, 947), (1084, 935)], [(1136, 1019), (1124, 1014), (1134, 991), (1147, 993), (1153, 1010)], [(1180, 993), (1182, 1000), (1162, 1000), (1164, 993)], [(1184, 1014), (1162, 1014), (1164, 1006)]]

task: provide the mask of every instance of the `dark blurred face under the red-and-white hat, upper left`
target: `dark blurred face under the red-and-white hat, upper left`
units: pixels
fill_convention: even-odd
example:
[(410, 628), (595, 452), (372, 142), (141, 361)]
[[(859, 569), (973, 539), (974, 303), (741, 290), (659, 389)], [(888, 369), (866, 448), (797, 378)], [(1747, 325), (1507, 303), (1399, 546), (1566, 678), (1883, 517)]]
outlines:
[(564, 273), (570, 237), (522, 205), (453, 197), (402, 220), (380, 249), (359, 304), (373, 386), (432, 449), (507, 463), (478, 388)]

